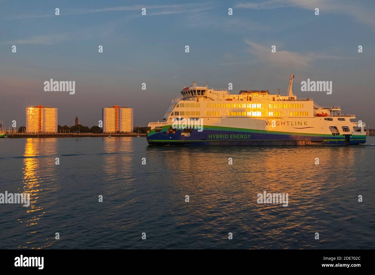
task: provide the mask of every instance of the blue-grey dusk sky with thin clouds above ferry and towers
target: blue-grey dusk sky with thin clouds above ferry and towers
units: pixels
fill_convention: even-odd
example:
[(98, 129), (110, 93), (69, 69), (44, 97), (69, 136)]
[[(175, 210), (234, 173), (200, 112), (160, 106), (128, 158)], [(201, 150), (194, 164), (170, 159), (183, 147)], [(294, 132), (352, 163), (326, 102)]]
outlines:
[[(92, 126), (102, 107), (121, 105), (147, 126), (193, 80), (286, 93), (294, 73), (298, 97), (375, 127), (374, 35), (374, 1), (0, 0), (0, 119), (19, 127), (25, 107), (45, 105), (58, 108), (60, 125), (78, 116)], [(51, 78), (74, 80), (75, 94), (45, 92)], [(301, 92), (308, 78), (332, 81), (332, 94)]]

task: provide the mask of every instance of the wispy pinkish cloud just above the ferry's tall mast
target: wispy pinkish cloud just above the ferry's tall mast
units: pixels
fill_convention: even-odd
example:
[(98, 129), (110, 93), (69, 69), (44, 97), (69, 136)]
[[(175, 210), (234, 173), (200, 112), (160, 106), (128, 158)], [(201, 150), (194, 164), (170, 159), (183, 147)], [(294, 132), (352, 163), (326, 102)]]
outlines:
[(310, 67), (313, 62), (317, 60), (352, 59), (351, 57), (326, 55), (315, 52), (299, 53), (276, 51), (273, 53), (271, 52), (271, 46), (264, 46), (247, 40), (245, 42), (251, 46), (250, 51), (259, 62), (270, 65), (271, 67), (301, 68)]

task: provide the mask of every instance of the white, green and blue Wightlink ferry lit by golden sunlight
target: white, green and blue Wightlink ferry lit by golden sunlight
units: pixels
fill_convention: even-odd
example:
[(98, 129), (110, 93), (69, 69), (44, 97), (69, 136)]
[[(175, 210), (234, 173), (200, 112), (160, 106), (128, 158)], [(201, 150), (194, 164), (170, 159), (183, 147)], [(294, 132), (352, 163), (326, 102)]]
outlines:
[(339, 106), (324, 107), (312, 98), (267, 90), (242, 90), (193, 85), (172, 100), (163, 121), (150, 122), (151, 145), (354, 145), (366, 143), (365, 123)]

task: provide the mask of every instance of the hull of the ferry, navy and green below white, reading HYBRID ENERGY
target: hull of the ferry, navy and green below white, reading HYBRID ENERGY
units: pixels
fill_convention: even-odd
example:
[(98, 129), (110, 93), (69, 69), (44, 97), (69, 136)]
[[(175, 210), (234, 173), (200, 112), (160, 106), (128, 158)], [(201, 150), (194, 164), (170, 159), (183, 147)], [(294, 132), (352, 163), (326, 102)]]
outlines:
[[(338, 135), (333, 135), (328, 128), (329, 125), (333, 125), (333, 122), (326, 121), (324, 118), (283, 118), (274, 120), (275, 127), (272, 127), (272, 120), (270, 119), (254, 119), (250, 117), (210, 118), (211, 125), (204, 125), (203, 123), (201, 132), (193, 129), (188, 136), (183, 134), (183, 129), (175, 129), (175, 131), (170, 132), (168, 129), (170, 129), (172, 124), (168, 125), (166, 122), (160, 122), (161, 131), (156, 132), (156, 128), (151, 129), (147, 133), (147, 141), (151, 145), (198, 146), (354, 145), (366, 143), (366, 134), (364, 132), (346, 133), (341, 131)], [(348, 122), (336, 121), (334, 123), (334, 125), (338, 125), (338, 128), (341, 124), (348, 125)], [(350, 122), (350, 124), (353, 124), (353, 122)], [(245, 127), (244, 125), (248, 126)]]

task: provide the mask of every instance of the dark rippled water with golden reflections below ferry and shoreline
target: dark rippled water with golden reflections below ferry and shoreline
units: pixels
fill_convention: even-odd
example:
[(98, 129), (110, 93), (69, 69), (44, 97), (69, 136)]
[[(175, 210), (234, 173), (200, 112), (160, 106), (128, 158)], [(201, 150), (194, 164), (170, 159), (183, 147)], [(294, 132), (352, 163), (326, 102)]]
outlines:
[[(374, 249), (374, 171), (375, 137), (350, 147), (1, 138), (0, 193), (31, 203), (0, 204), (0, 248)], [(263, 191), (288, 193), (288, 206), (258, 204)]]

